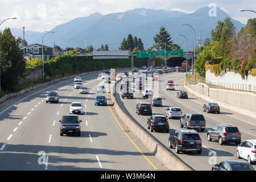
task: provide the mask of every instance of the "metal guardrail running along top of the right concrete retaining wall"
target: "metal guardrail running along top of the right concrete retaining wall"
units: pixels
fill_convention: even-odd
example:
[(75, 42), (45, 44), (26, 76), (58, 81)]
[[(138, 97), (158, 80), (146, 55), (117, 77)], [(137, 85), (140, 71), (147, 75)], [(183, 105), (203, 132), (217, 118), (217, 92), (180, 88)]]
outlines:
[(225, 82), (210, 82), (205, 80), (205, 78), (196, 78), (195, 79), (190, 79), (188, 76), (191, 74), (186, 75), (185, 81), (188, 84), (191, 85), (196, 85), (199, 83), (203, 83), (209, 88), (215, 88), (215, 89), (226, 89), (226, 90), (234, 90), (234, 91), (240, 91), (240, 92), (251, 92), (251, 93), (256, 93), (256, 85), (250, 85), (250, 84), (232, 84), (232, 83), (225, 83)]

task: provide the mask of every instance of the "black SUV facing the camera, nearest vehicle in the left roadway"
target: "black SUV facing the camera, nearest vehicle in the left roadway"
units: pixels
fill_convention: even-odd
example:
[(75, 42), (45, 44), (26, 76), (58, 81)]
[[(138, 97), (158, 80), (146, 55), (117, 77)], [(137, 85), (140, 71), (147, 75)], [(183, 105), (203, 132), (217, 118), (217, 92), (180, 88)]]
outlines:
[(77, 114), (65, 114), (60, 120), (60, 136), (63, 134), (74, 134), (81, 135), (81, 125)]

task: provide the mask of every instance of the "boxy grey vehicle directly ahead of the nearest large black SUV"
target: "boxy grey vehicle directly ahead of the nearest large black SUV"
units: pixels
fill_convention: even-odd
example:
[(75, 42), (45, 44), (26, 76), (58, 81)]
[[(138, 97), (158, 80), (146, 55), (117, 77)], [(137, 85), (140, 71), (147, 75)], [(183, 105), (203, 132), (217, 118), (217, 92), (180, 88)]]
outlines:
[(204, 131), (206, 121), (203, 114), (184, 114), (180, 118), (180, 127), (185, 126), (187, 129), (200, 129)]

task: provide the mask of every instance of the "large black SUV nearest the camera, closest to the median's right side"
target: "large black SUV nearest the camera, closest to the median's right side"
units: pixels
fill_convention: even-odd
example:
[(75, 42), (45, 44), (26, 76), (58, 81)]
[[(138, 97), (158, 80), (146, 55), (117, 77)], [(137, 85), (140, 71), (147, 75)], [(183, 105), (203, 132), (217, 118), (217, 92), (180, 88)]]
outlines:
[(169, 135), (168, 146), (175, 148), (176, 154), (188, 151), (194, 151), (197, 154), (202, 152), (202, 140), (196, 130), (174, 129)]

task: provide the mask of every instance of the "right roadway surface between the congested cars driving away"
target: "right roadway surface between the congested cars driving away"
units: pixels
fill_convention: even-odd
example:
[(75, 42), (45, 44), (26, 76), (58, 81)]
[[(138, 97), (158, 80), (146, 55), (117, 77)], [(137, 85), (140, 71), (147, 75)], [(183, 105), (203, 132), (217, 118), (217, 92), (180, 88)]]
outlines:
[[(185, 90), (183, 87), (183, 81), (185, 78), (185, 73), (164, 73), (159, 76), (159, 82), (156, 84), (156, 89), (159, 87), (159, 96), (163, 98), (163, 107), (152, 107), (152, 114), (163, 114), (164, 111), (169, 106), (178, 106), (185, 113), (197, 113), (203, 114), (206, 120), (207, 129), (204, 132), (199, 131), (200, 137), (203, 140), (203, 151), (201, 154), (196, 154), (193, 152), (180, 153), (176, 154), (175, 149), (168, 148), (168, 136), (173, 129), (181, 129), (179, 125), (179, 119), (168, 119), (170, 124), (170, 132), (164, 133), (159, 131), (150, 132), (147, 129), (146, 123), (148, 115), (138, 115), (136, 114), (136, 105), (139, 102), (150, 102), (150, 99), (143, 99), (142, 93), (135, 93), (134, 99), (121, 98), (121, 94), (117, 94), (119, 103), (121, 104), (123, 110), (130, 115), (143, 130), (147, 131), (149, 135), (154, 137), (158, 142), (163, 144), (174, 155), (182, 159), (185, 163), (191, 166), (195, 170), (211, 170), (213, 163), (220, 163), (222, 160), (227, 159), (237, 159), (236, 157), (236, 144), (235, 143), (226, 143), (223, 146), (220, 146), (217, 141), (209, 142), (207, 140), (207, 130), (213, 128), (218, 124), (229, 124), (236, 125), (241, 132), (242, 141), (246, 139), (255, 139), (256, 138), (256, 120), (255, 118), (246, 117), (245, 115), (232, 113), (232, 111), (222, 109), (220, 114), (206, 113), (203, 112), (203, 104), (207, 103), (206, 101), (193, 96), (188, 93), (188, 99), (182, 99), (176, 97), (177, 90)], [(167, 80), (174, 80), (175, 90), (166, 90)], [(117, 84), (116, 90), (119, 90), (121, 82)], [(147, 84), (150, 84), (147, 81)], [(154, 87), (154, 86), (153, 86)], [(216, 155), (215, 155), (216, 154)], [(217, 156), (213, 158), (213, 155)], [(256, 166), (253, 165), (254, 169)]]

